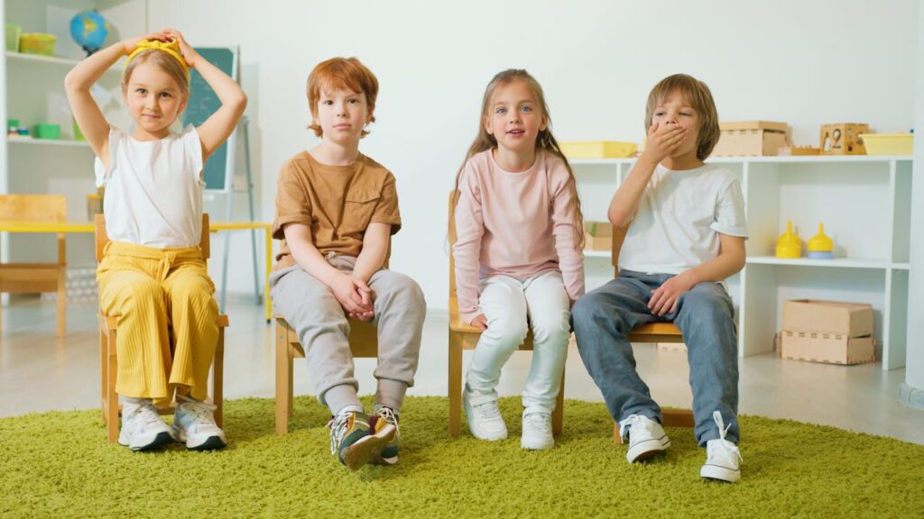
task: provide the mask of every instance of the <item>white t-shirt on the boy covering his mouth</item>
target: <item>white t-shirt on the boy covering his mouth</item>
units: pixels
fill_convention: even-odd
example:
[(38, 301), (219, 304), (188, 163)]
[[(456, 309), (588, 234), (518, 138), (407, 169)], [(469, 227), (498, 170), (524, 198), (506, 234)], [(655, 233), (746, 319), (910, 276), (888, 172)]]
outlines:
[(659, 164), (638, 202), (619, 268), (679, 274), (719, 255), (719, 234), (748, 237), (737, 176), (715, 164), (672, 171)]

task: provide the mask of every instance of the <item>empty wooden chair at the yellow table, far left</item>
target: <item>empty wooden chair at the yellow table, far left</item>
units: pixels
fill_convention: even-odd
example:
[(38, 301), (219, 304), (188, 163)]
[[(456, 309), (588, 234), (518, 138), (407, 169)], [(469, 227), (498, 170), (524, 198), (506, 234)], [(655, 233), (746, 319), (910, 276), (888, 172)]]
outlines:
[[(67, 221), (67, 198), (64, 195), (0, 195), (0, 220), (6, 222), (63, 223)], [(0, 292), (34, 294), (57, 292), (57, 330), (65, 333), (67, 272), (64, 233), (57, 234), (57, 263), (0, 264)], [(0, 312), (2, 317), (2, 312)], [(3, 320), (0, 319), (0, 328)]]

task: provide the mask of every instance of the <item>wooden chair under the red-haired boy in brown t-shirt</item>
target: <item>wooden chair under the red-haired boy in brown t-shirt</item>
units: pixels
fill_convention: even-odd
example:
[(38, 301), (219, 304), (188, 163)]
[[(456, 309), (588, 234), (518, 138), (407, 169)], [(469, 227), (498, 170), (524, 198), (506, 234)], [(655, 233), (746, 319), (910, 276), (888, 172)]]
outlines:
[[(388, 241), (388, 252), (385, 254), (383, 268), (388, 268), (388, 259), (391, 257), (391, 237)], [(269, 287), (267, 287), (269, 290)], [(288, 322), (275, 315), (276, 320), (276, 434), (288, 434), (288, 422), (292, 417), (293, 390), (292, 390), (292, 360), (305, 358), (305, 348), (298, 340), (298, 333), (289, 326)], [(348, 319), (350, 353), (359, 358), (378, 358), (379, 356), (379, 330), (371, 322), (365, 320)]]

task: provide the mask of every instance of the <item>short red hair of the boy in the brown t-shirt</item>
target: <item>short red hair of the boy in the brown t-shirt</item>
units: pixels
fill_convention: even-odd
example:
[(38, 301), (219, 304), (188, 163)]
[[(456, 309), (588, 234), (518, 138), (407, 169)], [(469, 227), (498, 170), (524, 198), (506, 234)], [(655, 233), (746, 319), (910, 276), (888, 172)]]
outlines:
[[(332, 57), (319, 63), (311, 70), (308, 76), (308, 105), (311, 110), (311, 124), (314, 135), (321, 137), (323, 131), (318, 124), (318, 101), (321, 99), (321, 89), (342, 89), (361, 92), (366, 96), (369, 106), (369, 122), (375, 122), (375, 99), (379, 95), (379, 79), (372, 74), (369, 67), (359, 62), (355, 57)], [(359, 133), (363, 138), (369, 135), (365, 129)]]

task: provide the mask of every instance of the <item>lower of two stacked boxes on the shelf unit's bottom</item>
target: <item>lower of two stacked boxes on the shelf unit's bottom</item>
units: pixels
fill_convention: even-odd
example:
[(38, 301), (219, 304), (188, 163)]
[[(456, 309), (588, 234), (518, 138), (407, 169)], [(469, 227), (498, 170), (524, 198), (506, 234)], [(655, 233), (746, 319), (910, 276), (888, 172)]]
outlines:
[(784, 358), (828, 364), (862, 364), (876, 360), (872, 337), (847, 337), (829, 333), (780, 332)]

